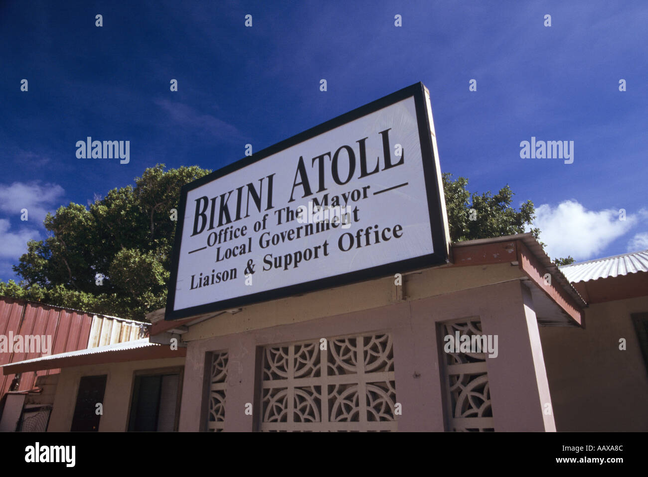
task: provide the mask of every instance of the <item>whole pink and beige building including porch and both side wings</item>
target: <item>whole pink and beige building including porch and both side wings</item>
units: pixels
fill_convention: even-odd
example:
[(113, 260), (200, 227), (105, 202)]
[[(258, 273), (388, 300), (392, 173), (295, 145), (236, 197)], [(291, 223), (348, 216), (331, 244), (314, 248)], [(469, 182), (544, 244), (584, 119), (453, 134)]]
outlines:
[[(28, 426), (49, 405), (59, 432), (648, 430), (648, 250), (559, 268), (521, 234), (454, 243), (451, 256), (401, 285), (180, 322), (161, 309), (150, 338), (106, 344), (104, 322), (101, 346), (5, 365), (42, 379), (8, 397)], [(497, 336), (496, 349), (446, 353), (457, 331)], [(93, 406), (79, 409), (84, 396)]]

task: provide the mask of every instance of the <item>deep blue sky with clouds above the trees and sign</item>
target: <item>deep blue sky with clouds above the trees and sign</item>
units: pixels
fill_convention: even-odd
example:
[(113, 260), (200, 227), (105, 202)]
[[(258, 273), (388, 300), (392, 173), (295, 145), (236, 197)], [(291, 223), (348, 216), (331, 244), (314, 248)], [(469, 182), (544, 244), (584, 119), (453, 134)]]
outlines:
[[(279, 5), (0, 1), (0, 279), (60, 205), (158, 162), (216, 170), (419, 81), (441, 170), (531, 199), (550, 256), (648, 248), (645, 1)], [(130, 162), (77, 159), (87, 136), (130, 140)], [(573, 163), (521, 159), (531, 137), (573, 140)]]

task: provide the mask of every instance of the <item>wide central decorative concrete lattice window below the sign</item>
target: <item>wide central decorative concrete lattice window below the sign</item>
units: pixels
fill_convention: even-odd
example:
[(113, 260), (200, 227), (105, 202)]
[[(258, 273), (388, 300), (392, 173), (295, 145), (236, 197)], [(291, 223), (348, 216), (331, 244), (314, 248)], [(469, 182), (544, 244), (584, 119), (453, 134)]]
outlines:
[(396, 386), (391, 337), (355, 335), (267, 346), (262, 431), (391, 431)]

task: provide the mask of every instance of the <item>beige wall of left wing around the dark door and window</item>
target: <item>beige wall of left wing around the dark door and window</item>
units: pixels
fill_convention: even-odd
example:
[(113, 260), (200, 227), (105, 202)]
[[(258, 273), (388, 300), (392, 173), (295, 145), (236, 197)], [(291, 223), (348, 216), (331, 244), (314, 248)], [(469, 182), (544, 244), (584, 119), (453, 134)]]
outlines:
[(150, 359), (145, 361), (91, 364), (63, 368), (59, 375), (48, 432), (68, 432), (75, 412), (76, 395), (82, 376), (108, 375), (104, 394), (104, 414), (100, 432), (123, 432), (128, 425), (133, 373), (140, 370), (184, 366), (185, 358)]

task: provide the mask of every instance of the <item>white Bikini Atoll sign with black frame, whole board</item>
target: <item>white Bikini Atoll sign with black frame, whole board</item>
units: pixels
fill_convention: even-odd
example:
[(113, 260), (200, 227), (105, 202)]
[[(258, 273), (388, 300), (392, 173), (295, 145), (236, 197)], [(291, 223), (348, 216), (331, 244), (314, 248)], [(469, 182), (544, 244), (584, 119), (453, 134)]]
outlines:
[(185, 185), (167, 320), (446, 263), (417, 83)]

